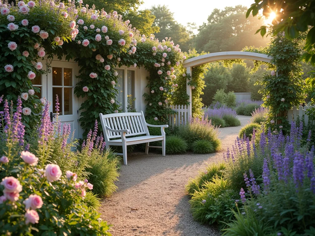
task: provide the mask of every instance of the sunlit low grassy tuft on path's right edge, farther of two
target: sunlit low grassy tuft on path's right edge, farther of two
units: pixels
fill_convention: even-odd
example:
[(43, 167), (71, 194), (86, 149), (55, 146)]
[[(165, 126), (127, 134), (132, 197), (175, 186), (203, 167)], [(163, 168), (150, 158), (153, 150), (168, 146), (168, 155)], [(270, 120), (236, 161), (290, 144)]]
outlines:
[(196, 190), (200, 191), (203, 188), (205, 182), (209, 182), (215, 175), (224, 176), (223, 170), (225, 169), (225, 163), (213, 163), (206, 168), (205, 171), (200, 172), (199, 175), (193, 179), (190, 179), (185, 189), (188, 194), (193, 194)]

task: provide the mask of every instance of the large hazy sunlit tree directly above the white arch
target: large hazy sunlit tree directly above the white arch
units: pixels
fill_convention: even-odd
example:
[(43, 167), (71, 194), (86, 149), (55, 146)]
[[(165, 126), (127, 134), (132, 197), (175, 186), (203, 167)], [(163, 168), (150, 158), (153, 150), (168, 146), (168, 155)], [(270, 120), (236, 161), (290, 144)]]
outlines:
[(199, 27), (199, 33), (193, 40), (197, 51), (209, 53), (241, 51), (245, 46), (266, 46), (268, 38), (255, 35), (261, 21), (251, 17), (246, 19), (247, 8), (241, 5), (215, 8), (208, 17), (208, 23)]

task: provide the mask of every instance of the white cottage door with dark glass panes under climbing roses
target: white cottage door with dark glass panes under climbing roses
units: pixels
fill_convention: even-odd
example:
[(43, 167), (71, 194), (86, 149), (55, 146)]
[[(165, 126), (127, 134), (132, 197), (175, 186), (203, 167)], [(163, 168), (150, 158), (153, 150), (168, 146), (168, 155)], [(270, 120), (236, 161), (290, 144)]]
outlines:
[(78, 98), (74, 95), (77, 83), (77, 63), (53, 60), (47, 75), (47, 100), (51, 102), (50, 112), (56, 113), (56, 95), (59, 98), (59, 119), (61, 127), (70, 124), (71, 135), (78, 138)]

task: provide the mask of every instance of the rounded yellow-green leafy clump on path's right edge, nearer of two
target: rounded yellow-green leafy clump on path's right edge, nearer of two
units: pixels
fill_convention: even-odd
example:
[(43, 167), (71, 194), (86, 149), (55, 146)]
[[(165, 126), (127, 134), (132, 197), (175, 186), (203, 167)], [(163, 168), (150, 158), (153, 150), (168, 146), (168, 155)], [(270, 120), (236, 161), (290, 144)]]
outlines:
[(203, 189), (192, 194), (192, 215), (201, 223), (217, 223), (220, 228), (228, 222), (233, 214), (230, 209), (236, 209), (235, 200), (238, 194), (230, 188), (227, 180), (215, 175), (211, 181), (203, 184)]

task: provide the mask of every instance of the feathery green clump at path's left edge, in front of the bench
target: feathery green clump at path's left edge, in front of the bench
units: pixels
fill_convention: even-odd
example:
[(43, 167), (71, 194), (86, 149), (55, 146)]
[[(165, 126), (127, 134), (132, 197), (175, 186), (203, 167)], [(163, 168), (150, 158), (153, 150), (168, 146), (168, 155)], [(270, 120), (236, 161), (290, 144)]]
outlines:
[(100, 153), (92, 151), (91, 155), (83, 156), (88, 160), (90, 167), (86, 168), (89, 174), (87, 179), (93, 184), (93, 193), (99, 196), (110, 196), (116, 191), (117, 186), (114, 181), (117, 180), (119, 160), (112, 152), (106, 151)]

